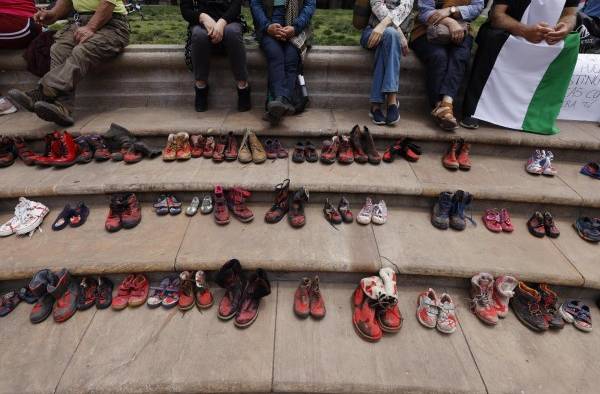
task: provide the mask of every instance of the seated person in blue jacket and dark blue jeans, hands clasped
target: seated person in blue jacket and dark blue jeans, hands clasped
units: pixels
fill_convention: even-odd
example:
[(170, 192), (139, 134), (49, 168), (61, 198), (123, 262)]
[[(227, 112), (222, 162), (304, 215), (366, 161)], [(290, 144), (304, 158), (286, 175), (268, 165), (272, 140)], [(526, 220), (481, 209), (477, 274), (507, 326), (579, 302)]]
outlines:
[(267, 57), (267, 119), (278, 123), (295, 113), (292, 96), (310, 40), (309, 24), (316, 0), (250, 0), (256, 38)]

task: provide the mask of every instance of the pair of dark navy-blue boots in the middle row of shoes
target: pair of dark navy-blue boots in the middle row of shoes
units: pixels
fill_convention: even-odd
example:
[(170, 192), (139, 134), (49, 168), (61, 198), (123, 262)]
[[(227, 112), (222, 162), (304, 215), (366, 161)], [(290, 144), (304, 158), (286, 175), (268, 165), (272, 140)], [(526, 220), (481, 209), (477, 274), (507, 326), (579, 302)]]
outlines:
[(431, 212), (431, 224), (440, 230), (447, 230), (450, 227), (457, 231), (467, 227), (465, 219), (469, 219), (475, 225), (472, 218), (465, 218), (465, 210), (472, 202), (473, 196), (463, 190), (457, 190), (455, 193), (440, 193)]

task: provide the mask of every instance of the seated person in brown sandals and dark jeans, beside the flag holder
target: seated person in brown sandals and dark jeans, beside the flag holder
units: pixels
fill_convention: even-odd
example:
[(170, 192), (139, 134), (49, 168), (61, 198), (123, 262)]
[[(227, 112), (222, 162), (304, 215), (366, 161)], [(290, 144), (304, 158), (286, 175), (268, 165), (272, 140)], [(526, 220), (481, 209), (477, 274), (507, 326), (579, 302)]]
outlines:
[[(458, 96), (471, 58), (473, 37), (469, 22), (483, 10), (483, 0), (419, 0), (419, 15), (410, 37), (410, 48), (425, 64), (427, 98), (438, 125), (458, 128), (453, 102)], [(439, 26), (439, 27), (438, 27)], [(437, 38), (431, 29), (443, 29)]]

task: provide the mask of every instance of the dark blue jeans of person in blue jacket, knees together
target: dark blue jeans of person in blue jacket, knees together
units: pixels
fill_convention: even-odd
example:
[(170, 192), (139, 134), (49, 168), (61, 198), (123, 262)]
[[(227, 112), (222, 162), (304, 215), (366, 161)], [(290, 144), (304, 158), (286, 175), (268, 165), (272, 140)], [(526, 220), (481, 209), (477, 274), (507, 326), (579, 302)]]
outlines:
[(276, 40), (267, 34), (261, 38), (260, 47), (267, 56), (269, 91), (275, 97), (290, 100), (300, 66), (298, 49), (290, 42)]

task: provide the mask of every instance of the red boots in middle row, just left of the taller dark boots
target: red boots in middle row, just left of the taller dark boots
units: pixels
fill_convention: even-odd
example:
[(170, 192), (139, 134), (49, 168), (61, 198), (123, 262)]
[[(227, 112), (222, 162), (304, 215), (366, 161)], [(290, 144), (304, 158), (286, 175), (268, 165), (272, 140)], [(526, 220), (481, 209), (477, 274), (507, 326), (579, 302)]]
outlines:
[(234, 187), (225, 192), (221, 185), (216, 185), (214, 191), (215, 222), (220, 225), (228, 224), (231, 221), (230, 212), (242, 223), (251, 222), (254, 219), (254, 213), (246, 205), (246, 200), (250, 196), (252, 193), (241, 187)]

